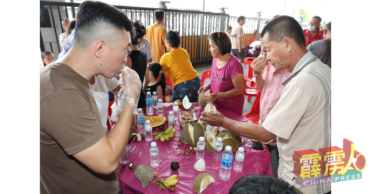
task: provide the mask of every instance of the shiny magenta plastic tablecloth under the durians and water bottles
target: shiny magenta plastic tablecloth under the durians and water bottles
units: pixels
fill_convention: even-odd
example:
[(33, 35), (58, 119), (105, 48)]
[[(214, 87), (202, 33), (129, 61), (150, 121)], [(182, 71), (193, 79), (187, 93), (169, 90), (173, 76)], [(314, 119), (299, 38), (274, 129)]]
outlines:
[[(194, 103), (195, 106), (195, 114), (196, 118), (199, 119), (203, 108), (201, 108), (198, 103)], [(168, 116), (169, 111), (171, 111), (172, 106), (164, 107), (164, 116)], [(185, 110), (183, 106), (180, 106), (180, 109), (183, 111)], [(239, 116), (233, 112), (230, 112), (226, 109), (217, 108), (218, 111), (226, 116), (227, 118), (233, 119), (235, 121), (240, 122), (247, 122), (242, 116)], [(146, 115), (147, 116), (147, 115)], [(154, 113), (153, 116), (157, 116), (157, 113)], [(191, 194), (194, 193), (193, 191), (193, 180), (196, 175), (202, 173), (194, 170), (193, 165), (196, 163), (196, 156), (195, 153), (190, 152), (189, 157), (190, 159), (186, 159), (187, 155), (185, 154), (177, 154), (176, 152), (181, 152), (183, 150), (186, 151), (190, 145), (181, 143), (181, 145), (177, 145), (179, 142), (179, 135), (181, 133), (181, 129), (179, 127), (180, 121), (179, 119), (175, 122), (175, 129), (177, 132), (174, 134), (174, 137), (171, 138), (169, 141), (161, 142), (160, 139), (153, 140), (157, 143), (157, 147), (159, 149), (159, 157), (162, 162), (160, 162), (159, 167), (152, 168), (155, 172), (158, 172), (158, 176), (154, 177), (154, 179), (158, 178), (167, 178), (171, 175), (177, 174), (179, 183), (175, 186), (176, 191), (175, 193), (180, 194)], [(156, 130), (152, 131), (156, 132)], [(150, 164), (150, 144), (151, 142), (145, 141), (135, 141), (130, 142), (128, 144), (129, 148), (129, 162), (134, 162), (135, 165), (139, 164)], [(178, 146), (178, 149), (175, 149), (175, 146)], [(244, 147), (244, 146), (243, 146)], [(211, 185), (204, 190), (203, 194), (227, 194), (229, 193), (230, 187), (241, 177), (247, 174), (265, 174), (273, 176), (272, 169), (270, 168), (270, 154), (266, 146), (264, 146), (264, 150), (257, 150), (257, 149), (248, 149), (245, 148), (245, 158), (243, 162), (243, 169), (242, 172), (236, 172), (231, 170), (231, 177), (227, 181), (222, 181), (219, 178), (219, 170), (220, 170), (220, 161), (213, 160), (213, 152), (205, 151), (204, 160), (206, 162), (206, 171), (215, 178), (215, 183), (211, 183)], [(186, 151), (187, 152), (187, 151)], [(234, 153), (235, 156), (235, 153)], [(233, 157), (234, 158), (234, 157)], [(177, 171), (170, 169), (170, 164), (172, 161), (178, 161), (180, 164), (180, 168)], [(128, 164), (118, 166), (118, 179), (119, 183), (122, 186), (123, 193), (142, 193), (142, 194), (150, 194), (150, 193), (169, 193), (169, 191), (161, 191), (157, 184), (150, 183), (147, 187), (141, 187), (140, 181), (134, 177), (134, 170), (130, 170), (128, 168)]]

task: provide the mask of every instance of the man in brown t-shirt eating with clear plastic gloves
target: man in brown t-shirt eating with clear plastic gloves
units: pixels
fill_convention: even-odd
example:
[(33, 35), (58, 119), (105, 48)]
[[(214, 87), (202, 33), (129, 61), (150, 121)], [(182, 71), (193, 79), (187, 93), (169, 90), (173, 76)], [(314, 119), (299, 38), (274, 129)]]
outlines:
[[(131, 20), (115, 7), (84, 1), (72, 48), (40, 71), (40, 193), (119, 192), (116, 170), (135, 105), (125, 103), (106, 136), (89, 80), (120, 73), (132, 28)], [(134, 80), (123, 76), (126, 98), (137, 99), (141, 84), (137, 74), (129, 72)]]

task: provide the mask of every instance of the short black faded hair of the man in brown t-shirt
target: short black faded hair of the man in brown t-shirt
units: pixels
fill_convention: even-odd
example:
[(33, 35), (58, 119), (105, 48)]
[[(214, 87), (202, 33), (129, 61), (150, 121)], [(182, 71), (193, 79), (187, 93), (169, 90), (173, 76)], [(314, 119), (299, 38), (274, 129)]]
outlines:
[(101, 1), (84, 1), (76, 16), (74, 45), (87, 49), (99, 39), (106, 40), (110, 47), (133, 30), (133, 22), (121, 10)]

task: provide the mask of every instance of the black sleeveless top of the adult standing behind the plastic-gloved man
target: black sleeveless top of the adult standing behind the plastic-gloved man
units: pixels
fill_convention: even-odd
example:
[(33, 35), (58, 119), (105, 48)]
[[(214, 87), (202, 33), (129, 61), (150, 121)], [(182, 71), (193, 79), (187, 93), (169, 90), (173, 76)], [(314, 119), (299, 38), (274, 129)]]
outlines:
[(147, 68), (147, 57), (140, 50), (132, 50), (128, 53), (131, 59), (131, 69), (138, 73), (139, 79), (142, 82), (141, 93), (139, 96), (138, 108), (145, 107), (145, 94), (142, 91), (145, 70)]

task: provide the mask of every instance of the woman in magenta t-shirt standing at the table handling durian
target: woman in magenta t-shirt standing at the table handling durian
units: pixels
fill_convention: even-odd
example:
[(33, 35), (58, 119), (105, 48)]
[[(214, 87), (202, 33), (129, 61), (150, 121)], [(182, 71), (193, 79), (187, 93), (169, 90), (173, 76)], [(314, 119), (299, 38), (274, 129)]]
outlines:
[(211, 65), (210, 83), (201, 87), (200, 92), (213, 89), (206, 101), (213, 102), (218, 108), (224, 108), (242, 115), (244, 103), (243, 68), (237, 57), (230, 54), (231, 41), (225, 32), (214, 32), (209, 36), (211, 55), (214, 57)]

